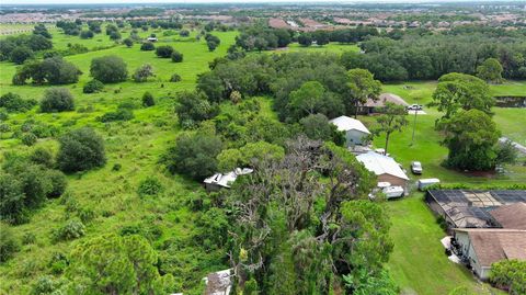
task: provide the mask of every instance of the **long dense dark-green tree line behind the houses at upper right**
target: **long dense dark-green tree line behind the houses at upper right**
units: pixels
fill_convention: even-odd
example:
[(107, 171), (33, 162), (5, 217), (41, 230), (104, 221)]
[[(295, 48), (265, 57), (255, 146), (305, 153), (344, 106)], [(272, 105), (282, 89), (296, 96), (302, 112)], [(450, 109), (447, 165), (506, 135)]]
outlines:
[(526, 78), (526, 42), (522, 37), (483, 34), (405, 35), (401, 39), (371, 37), (359, 44), (364, 54), (342, 55), (346, 68), (365, 68), (382, 81), (437, 79), (448, 72), (476, 75), (494, 58), (506, 79)]

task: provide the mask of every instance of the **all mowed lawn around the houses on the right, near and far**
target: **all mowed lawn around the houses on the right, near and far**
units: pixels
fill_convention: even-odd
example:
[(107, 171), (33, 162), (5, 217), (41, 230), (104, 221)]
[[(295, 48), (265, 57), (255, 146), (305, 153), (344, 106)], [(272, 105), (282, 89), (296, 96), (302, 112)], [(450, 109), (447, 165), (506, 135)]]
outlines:
[[(404, 82), (386, 84), (385, 92), (396, 93), (408, 103), (427, 104), (436, 82)], [(514, 95), (526, 93), (526, 82), (512, 81), (502, 86), (491, 86), (493, 93)], [(393, 133), (388, 152), (409, 171), (412, 160), (422, 161), (424, 173), (421, 178), (438, 178), (444, 183), (468, 183), (473, 185), (526, 183), (526, 167), (507, 166), (506, 172), (490, 177), (474, 177), (451, 171), (441, 166), (447, 157), (447, 148), (442, 146), (442, 135), (434, 129), (435, 120), (442, 114), (436, 109), (425, 107), (426, 115), (409, 116), (410, 125), (402, 133)], [(503, 136), (518, 143), (526, 140), (526, 110), (494, 107), (494, 121)], [(375, 124), (374, 116), (361, 117), (367, 125)], [(412, 141), (415, 126), (414, 141)], [(374, 140), (375, 147), (385, 146), (385, 137)], [(418, 178), (411, 175), (413, 184)], [(391, 238), (395, 250), (387, 263), (402, 294), (443, 295), (456, 287), (466, 287), (468, 294), (499, 294), (488, 284), (474, 280), (464, 266), (450, 262), (444, 254), (441, 239), (446, 235), (436, 218), (423, 202), (422, 193), (386, 203), (391, 215)]]

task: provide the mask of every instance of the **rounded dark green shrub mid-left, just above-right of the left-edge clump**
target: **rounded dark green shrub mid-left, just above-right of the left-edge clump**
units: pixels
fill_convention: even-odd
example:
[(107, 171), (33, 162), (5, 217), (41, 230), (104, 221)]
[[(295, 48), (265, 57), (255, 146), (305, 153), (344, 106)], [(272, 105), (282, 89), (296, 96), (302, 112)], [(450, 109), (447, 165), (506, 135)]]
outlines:
[(104, 141), (92, 128), (67, 133), (59, 143), (57, 164), (65, 172), (89, 170), (106, 162)]

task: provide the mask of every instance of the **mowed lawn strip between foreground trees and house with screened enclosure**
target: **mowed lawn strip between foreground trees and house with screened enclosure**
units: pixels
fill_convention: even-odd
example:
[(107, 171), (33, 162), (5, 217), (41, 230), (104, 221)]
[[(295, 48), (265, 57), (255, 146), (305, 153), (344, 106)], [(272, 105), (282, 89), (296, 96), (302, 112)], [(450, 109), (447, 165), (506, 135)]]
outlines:
[(387, 202), (391, 215), (395, 249), (387, 266), (401, 287), (401, 294), (447, 295), (456, 287), (474, 294), (499, 294), (488, 284), (477, 282), (464, 266), (449, 261), (441, 239), (445, 234), (423, 201), (413, 194), (401, 201)]

